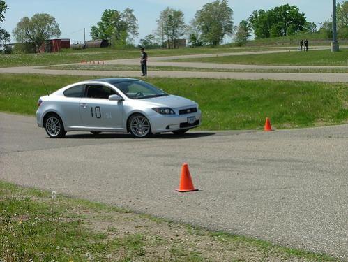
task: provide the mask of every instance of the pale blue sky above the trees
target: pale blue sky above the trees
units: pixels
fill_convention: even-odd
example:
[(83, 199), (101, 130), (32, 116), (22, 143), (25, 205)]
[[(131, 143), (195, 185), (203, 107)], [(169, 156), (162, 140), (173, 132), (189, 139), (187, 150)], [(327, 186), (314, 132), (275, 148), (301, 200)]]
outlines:
[[(12, 33), (17, 22), (24, 16), (31, 17), (36, 13), (49, 13), (56, 18), (62, 34), (61, 38), (83, 41), (83, 29), (86, 28), (86, 39), (90, 38), (91, 26), (96, 24), (105, 9), (124, 10), (133, 8), (139, 24), (139, 38), (151, 34), (156, 29), (156, 19), (161, 10), (167, 6), (180, 9), (188, 23), (197, 10), (205, 3), (213, 0), (5, 0), (8, 10), (5, 22), (1, 27)], [(338, 0), (340, 2), (340, 0)], [(300, 8), (308, 20), (319, 23), (331, 17), (331, 0), (229, 0), (229, 6), (234, 10), (233, 20), (237, 25), (247, 19), (253, 10), (268, 10), (275, 6), (289, 3)], [(317, 24), (318, 25), (318, 24)], [(139, 38), (136, 39), (136, 43)], [(15, 41), (11, 39), (11, 41)]]

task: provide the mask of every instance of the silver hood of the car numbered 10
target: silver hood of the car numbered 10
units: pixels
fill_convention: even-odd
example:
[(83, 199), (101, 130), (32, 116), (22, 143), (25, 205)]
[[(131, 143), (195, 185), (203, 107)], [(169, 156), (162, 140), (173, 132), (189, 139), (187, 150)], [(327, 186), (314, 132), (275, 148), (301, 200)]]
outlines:
[(153, 106), (161, 106), (168, 108), (184, 108), (187, 106), (197, 106), (197, 103), (191, 101), (190, 99), (183, 98), (181, 96), (158, 96), (151, 99), (139, 99), (138, 101), (146, 102)]

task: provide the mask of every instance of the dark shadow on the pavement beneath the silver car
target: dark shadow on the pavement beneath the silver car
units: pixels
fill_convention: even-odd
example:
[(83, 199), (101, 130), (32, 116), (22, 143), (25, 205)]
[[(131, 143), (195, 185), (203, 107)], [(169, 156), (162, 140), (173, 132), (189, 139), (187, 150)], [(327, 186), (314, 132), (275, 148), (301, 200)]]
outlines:
[[(213, 132), (198, 132), (198, 133), (184, 133), (181, 135), (175, 135), (173, 133), (160, 133), (153, 135), (149, 138), (144, 139), (185, 139), (185, 138), (203, 138), (205, 136), (213, 136)], [(98, 135), (93, 135), (92, 133), (77, 133), (77, 134), (67, 134), (65, 136), (67, 139), (105, 139), (105, 138), (133, 138), (129, 133), (100, 133)], [(139, 138), (140, 139), (140, 138)]]

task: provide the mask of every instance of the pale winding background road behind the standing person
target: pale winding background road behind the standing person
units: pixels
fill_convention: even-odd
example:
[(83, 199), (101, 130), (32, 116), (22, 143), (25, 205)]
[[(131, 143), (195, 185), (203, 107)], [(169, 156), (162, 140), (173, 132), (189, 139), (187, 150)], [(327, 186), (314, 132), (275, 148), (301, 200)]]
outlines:
[[(319, 47), (318, 49), (324, 49)], [(294, 51), (294, 50), (292, 50)], [(149, 61), (151, 66), (178, 66), (178, 67), (195, 67), (195, 68), (222, 68), (222, 69), (310, 69), (310, 68), (346, 68), (348, 66), (260, 66), (260, 65), (236, 65), (236, 64), (213, 64), (213, 63), (188, 63), (188, 62), (168, 62), (168, 59), (179, 58), (198, 58), (198, 57), (221, 57), (229, 55), (252, 55), (252, 54), (269, 54), (275, 52), (288, 52), (284, 50), (256, 51), (256, 52), (232, 52), (222, 54), (190, 54), (171, 57), (153, 57)], [(137, 65), (139, 59), (120, 59), (105, 61), (105, 64), (119, 65)], [(96, 77), (139, 77), (139, 71), (85, 71), (85, 70), (50, 70), (43, 66), (27, 66), (0, 68), (0, 73), (37, 73), (52, 75), (91, 75)], [(242, 80), (295, 80), (295, 81), (313, 81), (313, 82), (348, 82), (348, 73), (255, 73), (255, 72), (198, 72), (198, 71), (151, 71), (149, 77), (158, 78), (225, 78), (225, 79), (242, 79)]]

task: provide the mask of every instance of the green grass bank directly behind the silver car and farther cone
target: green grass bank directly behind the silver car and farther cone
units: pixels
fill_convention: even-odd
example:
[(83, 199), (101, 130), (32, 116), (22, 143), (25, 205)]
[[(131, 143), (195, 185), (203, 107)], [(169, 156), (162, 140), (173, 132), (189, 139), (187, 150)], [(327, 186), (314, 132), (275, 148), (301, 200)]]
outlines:
[[(40, 96), (93, 77), (1, 75), (0, 110), (33, 115)], [(147, 78), (169, 94), (197, 101), (203, 130), (278, 129), (342, 124), (348, 120), (348, 85), (272, 80)]]

